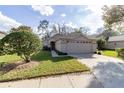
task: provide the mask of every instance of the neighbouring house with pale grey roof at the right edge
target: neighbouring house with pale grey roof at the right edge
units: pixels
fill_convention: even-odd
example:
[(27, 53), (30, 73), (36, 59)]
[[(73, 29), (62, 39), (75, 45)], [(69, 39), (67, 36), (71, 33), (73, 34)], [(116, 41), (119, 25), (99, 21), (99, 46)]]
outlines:
[(124, 35), (109, 37), (106, 47), (108, 49), (124, 48)]

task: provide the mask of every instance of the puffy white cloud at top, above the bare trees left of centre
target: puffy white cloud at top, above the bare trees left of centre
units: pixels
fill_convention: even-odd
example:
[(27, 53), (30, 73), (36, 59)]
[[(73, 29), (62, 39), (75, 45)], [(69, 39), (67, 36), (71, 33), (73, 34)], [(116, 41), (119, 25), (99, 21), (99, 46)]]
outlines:
[(45, 15), (45, 16), (50, 16), (50, 15), (52, 15), (54, 13), (54, 9), (51, 6), (33, 5), (32, 9), (34, 11), (40, 12), (41, 15)]

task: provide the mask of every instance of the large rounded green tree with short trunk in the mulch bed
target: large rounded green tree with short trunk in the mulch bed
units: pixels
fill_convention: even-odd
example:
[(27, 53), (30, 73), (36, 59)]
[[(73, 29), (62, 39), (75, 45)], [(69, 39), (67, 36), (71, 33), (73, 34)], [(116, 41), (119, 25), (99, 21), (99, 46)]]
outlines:
[(28, 31), (12, 32), (1, 41), (6, 54), (17, 53), (25, 62), (30, 62), (30, 57), (41, 49), (39, 37)]

